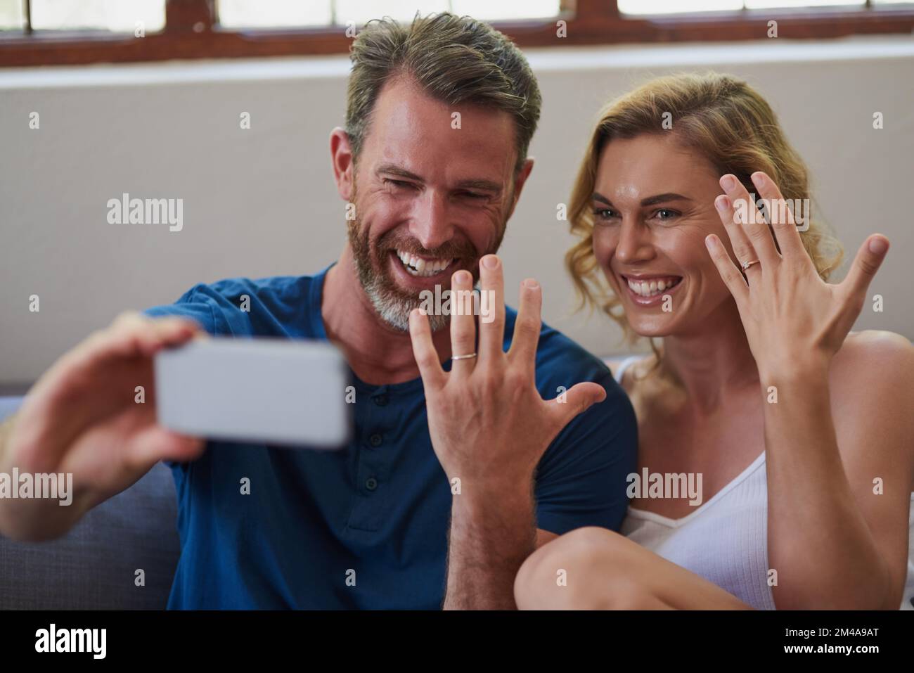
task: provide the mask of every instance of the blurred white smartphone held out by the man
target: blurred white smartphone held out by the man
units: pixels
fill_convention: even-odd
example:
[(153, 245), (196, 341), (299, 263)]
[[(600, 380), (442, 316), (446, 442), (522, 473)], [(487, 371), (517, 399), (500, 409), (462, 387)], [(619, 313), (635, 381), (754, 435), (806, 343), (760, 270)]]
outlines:
[(230, 442), (341, 448), (348, 368), (325, 341), (196, 338), (155, 354), (158, 422)]

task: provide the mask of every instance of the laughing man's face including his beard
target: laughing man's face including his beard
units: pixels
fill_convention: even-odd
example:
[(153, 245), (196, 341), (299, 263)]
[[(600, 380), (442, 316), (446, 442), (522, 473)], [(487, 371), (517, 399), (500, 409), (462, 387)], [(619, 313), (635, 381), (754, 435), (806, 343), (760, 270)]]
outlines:
[[(348, 236), (359, 280), (389, 326), (407, 331), (420, 293), (448, 289), (453, 272), (479, 277), (532, 167), (515, 179), (515, 160), (507, 112), (450, 106), (404, 78), (384, 86), (343, 196), (356, 207)], [(448, 324), (430, 319), (433, 329)]]

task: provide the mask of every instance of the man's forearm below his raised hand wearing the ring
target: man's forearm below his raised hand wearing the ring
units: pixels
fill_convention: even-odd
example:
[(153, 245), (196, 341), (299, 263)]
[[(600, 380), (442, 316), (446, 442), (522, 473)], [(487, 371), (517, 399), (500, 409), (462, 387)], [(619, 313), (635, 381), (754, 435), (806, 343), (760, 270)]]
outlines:
[(444, 609), (514, 610), (515, 575), (536, 549), (533, 487), (455, 495), (451, 512)]

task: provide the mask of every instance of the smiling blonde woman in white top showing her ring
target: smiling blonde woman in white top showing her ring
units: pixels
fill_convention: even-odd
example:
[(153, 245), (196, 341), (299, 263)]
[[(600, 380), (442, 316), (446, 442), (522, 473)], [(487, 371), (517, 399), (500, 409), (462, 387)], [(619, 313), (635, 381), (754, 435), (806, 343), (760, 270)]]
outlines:
[(745, 208), (752, 193), (776, 204), (809, 198), (809, 184), (746, 83), (667, 77), (601, 113), (572, 197), (569, 269), (587, 300), (663, 339), (617, 372), (638, 474), (702, 475), (703, 493), (700, 505), (641, 493), (622, 535), (548, 542), (518, 572), (518, 607), (908, 604), (914, 347), (849, 333), (888, 241), (868, 236), (845, 280), (827, 283), (840, 251), (820, 225), (771, 208), (770, 226)]

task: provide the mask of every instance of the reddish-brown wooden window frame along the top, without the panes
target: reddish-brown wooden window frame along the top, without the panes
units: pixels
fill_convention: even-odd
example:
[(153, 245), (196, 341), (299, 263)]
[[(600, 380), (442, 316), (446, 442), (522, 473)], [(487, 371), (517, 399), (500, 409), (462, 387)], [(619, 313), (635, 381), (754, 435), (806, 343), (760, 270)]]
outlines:
[[(28, 12), (28, 2), (23, 0)], [(566, 21), (567, 37), (557, 36)], [(822, 39), (914, 31), (914, 7), (754, 9), (691, 15), (622, 16), (615, 0), (561, 0), (558, 16), (493, 21), (521, 48), (681, 41), (763, 39), (768, 22), (778, 36)], [(345, 27), (236, 30), (218, 26), (215, 0), (166, 0), (165, 27), (145, 37), (106, 31), (33, 31), (0, 35), (0, 68), (86, 65), (169, 59), (240, 59), (345, 54)]]

